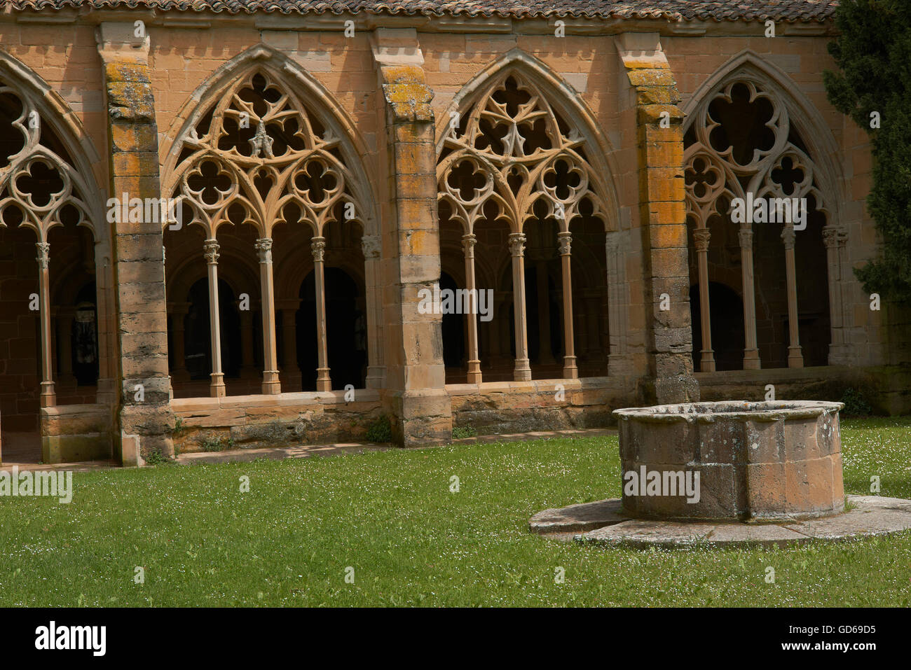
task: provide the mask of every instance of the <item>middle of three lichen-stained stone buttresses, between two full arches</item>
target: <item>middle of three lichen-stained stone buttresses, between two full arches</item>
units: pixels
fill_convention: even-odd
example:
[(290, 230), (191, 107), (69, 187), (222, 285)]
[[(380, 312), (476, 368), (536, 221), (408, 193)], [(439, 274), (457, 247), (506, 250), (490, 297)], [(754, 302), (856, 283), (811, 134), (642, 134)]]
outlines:
[(419, 292), (440, 278), (436, 210), (433, 91), (415, 28), (374, 29), (371, 47), (384, 96), (377, 109), (382, 165), (384, 405), (394, 439), (404, 446), (452, 438), (452, 402), (445, 390), (441, 315), (418, 310)]

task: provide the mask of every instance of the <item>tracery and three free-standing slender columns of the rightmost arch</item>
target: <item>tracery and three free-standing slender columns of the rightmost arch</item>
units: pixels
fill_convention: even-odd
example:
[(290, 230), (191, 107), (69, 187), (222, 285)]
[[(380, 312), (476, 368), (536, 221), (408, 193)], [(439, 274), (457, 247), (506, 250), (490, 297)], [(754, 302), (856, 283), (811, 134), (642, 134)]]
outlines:
[[(819, 226), (815, 223), (827, 221), (821, 237), (829, 247), (830, 236), (825, 231), (834, 229), (830, 188), (833, 178), (824, 164), (814, 160), (802, 137), (801, 128), (807, 127), (810, 121), (802, 117), (795, 119), (793, 115), (800, 114), (800, 107), (787, 100), (771, 76), (763, 76), (758, 67), (749, 63), (734, 67), (700, 99), (694, 100), (691, 107), (684, 135), (683, 163), (686, 213), (694, 228), (700, 287), (700, 369), (715, 370), (709, 304), (710, 253), (724, 243), (729, 231), (730, 235), (736, 235), (740, 249), (743, 368), (761, 366), (756, 322), (757, 278), (768, 274), (769, 269), (761, 266), (754, 273), (752, 257), (754, 235), (761, 235), (766, 241), (768, 236), (766, 230), (754, 228), (754, 212), (756, 226), (782, 226), (779, 232), (786, 291), (787, 364), (803, 367), (796, 288), (801, 268), (794, 250), (806, 241), (798, 241), (797, 236), (817, 235)], [(747, 215), (745, 218), (734, 216), (738, 208)], [(814, 226), (803, 232), (808, 220)], [(719, 234), (722, 239), (713, 244), (713, 236)], [(820, 247), (822, 243), (819, 240)], [(831, 249), (829, 253), (831, 256)], [(801, 260), (804, 262), (804, 257)], [(830, 293), (831, 288), (830, 280)]]

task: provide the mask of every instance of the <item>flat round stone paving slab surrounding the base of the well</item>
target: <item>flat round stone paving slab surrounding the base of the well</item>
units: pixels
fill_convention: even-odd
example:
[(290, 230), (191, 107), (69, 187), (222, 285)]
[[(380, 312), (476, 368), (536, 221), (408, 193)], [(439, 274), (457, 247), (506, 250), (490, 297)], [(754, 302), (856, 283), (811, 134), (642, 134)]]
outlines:
[[(633, 519), (619, 498), (549, 509), (531, 517), (533, 533), (554, 539), (638, 549), (663, 547), (787, 547), (811, 540), (848, 540), (911, 530), (911, 500), (849, 495), (848, 512), (786, 523), (683, 523)], [(600, 527), (587, 530), (593, 524)], [(579, 534), (579, 532), (582, 532)]]

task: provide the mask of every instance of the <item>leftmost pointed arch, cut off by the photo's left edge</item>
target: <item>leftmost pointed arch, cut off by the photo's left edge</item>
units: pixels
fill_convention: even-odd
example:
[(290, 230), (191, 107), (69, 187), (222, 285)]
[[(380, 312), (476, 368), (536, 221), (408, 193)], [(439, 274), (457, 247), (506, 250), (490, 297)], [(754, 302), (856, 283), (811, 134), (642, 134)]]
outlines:
[[(108, 330), (108, 306), (114, 304), (111, 231), (105, 216), (107, 188), (99, 178), (104, 164), (64, 99), (35, 71), (3, 51), (0, 126), (0, 229), (5, 233), (0, 255), (15, 265), (12, 278), (0, 277), (0, 284), (6, 279), (13, 284), (0, 288), (0, 293), (8, 294), (0, 320), (9, 321), (4, 330), (15, 333), (20, 351), (22, 342), (35, 342), (35, 363), (19, 360), (20, 372), (10, 368), (0, 375), (4, 382), (0, 396), (9, 397), (7, 384), (11, 384), (19, 401), (28, 400), (31, 390), (36, 390), (31, 400), (42, 408), (113, 401)], [(23, 280), (33, 277), (37, 292), (26, 289), (21, 300), (14, 299), (22, 293)], [(70, 286), (75, 289), (68, 290)], [(20, 303), (21, 310), (15, 307)], [(90, 330), (90, 337), (77, 341), (79, 350), (71, 340), (74, 330)], [(80, 362), (90, 357), (93, 368), (91, 374), (81, 375), (83, 389), (78, 392), (70, 374), (71, 354)], [(19, 412), (7, 407), (2, 412), (4, 430), (15, 425), (17, 418), (23, 419), (23, 425), (30, 424), (26, 432), (35, 431), (44, 421), (44, 412), (38, 416), (28, 412), (27, 417), (16, 417)], [(40, 451), (37, 441), (35, 450)]]

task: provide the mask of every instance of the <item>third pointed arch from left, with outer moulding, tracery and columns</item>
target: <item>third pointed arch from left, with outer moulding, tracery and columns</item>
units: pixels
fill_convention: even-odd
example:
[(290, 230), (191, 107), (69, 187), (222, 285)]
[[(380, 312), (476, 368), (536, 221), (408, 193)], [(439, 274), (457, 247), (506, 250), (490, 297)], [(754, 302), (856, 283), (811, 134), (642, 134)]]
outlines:
[[(562, 368), (549, 354), (539, 358), (538, 364), (548, 376), (578, 377), (570, 225), (581, 220), (599, 222), (604, 234), (600, 244), (606, 246), (608, 232), (616, 231), (619, 223), (609, 146), (592, 118), (568, 84), (537, 58), (514, 49), (475, 76), (439, 121), (437, 197), (441, 222), (462, 227), (469, 294), (476, 291), (476, 223), (496, 221), (508, 227), (515, 314), (513, 378), (517, 381), (530, 380), (532, 374), (526, 257), (533, 261), (533, 273), (537, 274), (537, 288), (531, 293), (537, 295), (537, 310), (533, 311), (539, 318), (538, 330), (544, 333), (543, 350), (550, 349), (548, 324), (556, 318), (548, 299), (555, 271), (548, 269), (549, 263), (558, 264), (556, 273), (561, 278), (563, 309), (557, 321), (562, 319), (563, 329), (554, 341), (562, 340), (564, 346)], [(533, 228), (527, 230), (529, 225)], [(548, 232), (551, 227), (553, 235)], [(528, 252), (527, 233), (536, 241)], [(484, 249), (482, 240), (478, 251)], [(605, 267), (603, 276), (607, 274)], [(469, 319), (468, 326), (467, 380), (476, 383), (482, 379), (476, 317)]]

